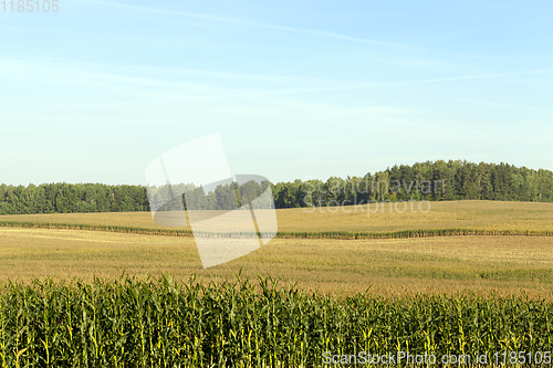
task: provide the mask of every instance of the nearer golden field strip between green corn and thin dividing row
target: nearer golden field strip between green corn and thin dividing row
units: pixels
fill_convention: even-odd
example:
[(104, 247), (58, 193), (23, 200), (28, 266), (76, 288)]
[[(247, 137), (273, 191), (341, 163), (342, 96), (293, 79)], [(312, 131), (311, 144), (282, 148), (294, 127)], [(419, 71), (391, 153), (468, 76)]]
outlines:
[(194, 238), (102, 231), (0, 228), (0, 277), (231, 280), (233, 273), (298, 282), (324, 293), (364, 292), (546, 296), (553, 285), (551, 236), (275, 239), (232, 262), (204, 270)]

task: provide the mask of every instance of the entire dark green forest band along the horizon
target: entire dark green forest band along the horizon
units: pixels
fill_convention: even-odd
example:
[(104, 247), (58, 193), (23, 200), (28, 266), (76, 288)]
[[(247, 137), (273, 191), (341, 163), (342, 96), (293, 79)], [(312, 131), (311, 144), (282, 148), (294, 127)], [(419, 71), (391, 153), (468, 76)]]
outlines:
[[(186, 187), (188, 200), (194, 199), (192, 191), (201, 202), (199, 208), (206, 209), (217, 209), (217, 193), (228, 193), (230, 188), (220, 186), (205, 193), (202, 188)], [(241, 187), (234, 185), (234, 188), (239, 198), (243, 198)], [(437, 160), (394, 166), (363, 177), (331, 177), (326, 181), (298, 179), (271, 183), (271, 188), (276, 208), (400, 200), (553, 202), (553, 172), (508, 164)], [(0, 214), (127, 211), (149, 211), (146, 187), (65, 182), (28, 187), (0, 185)]]

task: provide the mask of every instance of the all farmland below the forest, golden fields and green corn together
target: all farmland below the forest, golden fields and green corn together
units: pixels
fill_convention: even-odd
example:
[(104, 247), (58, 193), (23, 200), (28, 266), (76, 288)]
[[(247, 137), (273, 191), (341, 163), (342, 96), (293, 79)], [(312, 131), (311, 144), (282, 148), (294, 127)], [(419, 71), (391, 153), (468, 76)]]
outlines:
[(348, 210), (278, 210), (271, 243), (207, 270), (189, 231), (149, 213), (0, 217), (0, 353), (7, 366), (314, 367), (324, 351), (551, 350), (552, 204)]

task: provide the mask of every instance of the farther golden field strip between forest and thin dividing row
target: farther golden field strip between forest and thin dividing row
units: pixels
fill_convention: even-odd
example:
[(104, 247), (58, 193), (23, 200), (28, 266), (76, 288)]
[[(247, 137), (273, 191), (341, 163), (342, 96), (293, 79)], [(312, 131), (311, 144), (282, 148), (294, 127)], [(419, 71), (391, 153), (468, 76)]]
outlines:
[[(406, 206), (405, 211), (404, 206)], [(553, 203), (406, 202), (405, 204), (397, 203), (397, 211), (395, 203), (373, 203), (369, 208), (365, 204), (321, 209), (279, 209), (276, 218), (280, 232), (393, 232), (456, 228), (543, 231), (553, 230)], [(167, 229), (156, 224), (149, 212), (15, 214), (0, 215), (1, 221)]]

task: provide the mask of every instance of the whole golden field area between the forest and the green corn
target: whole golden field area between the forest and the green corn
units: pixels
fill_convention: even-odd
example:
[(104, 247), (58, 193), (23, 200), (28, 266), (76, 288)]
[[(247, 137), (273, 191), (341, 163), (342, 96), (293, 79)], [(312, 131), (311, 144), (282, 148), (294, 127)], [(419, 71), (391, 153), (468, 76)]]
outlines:
[[(367, 213), (366, 206), (278, 210), (279, 231), (553, 230), (550, 203), (430, 202), (426, 213), (401, 213), (388, 207), (379, 212), (372, 208)], [(161, 229), (149, 212), (2, 215), (0, 221)], [(251, 280), (279, 276), (298, 282), (301, 288), (324, 293), (351, 294), (367, 288), (383, 295), (494, 291), (550, 297), (553, 236), (274, 239), (241, 259), (204, 270), (189, 236), (2, 227), (0, 263), (1, 280), (114, 278), (123, 273), (228, 280), (242, 270)]]

